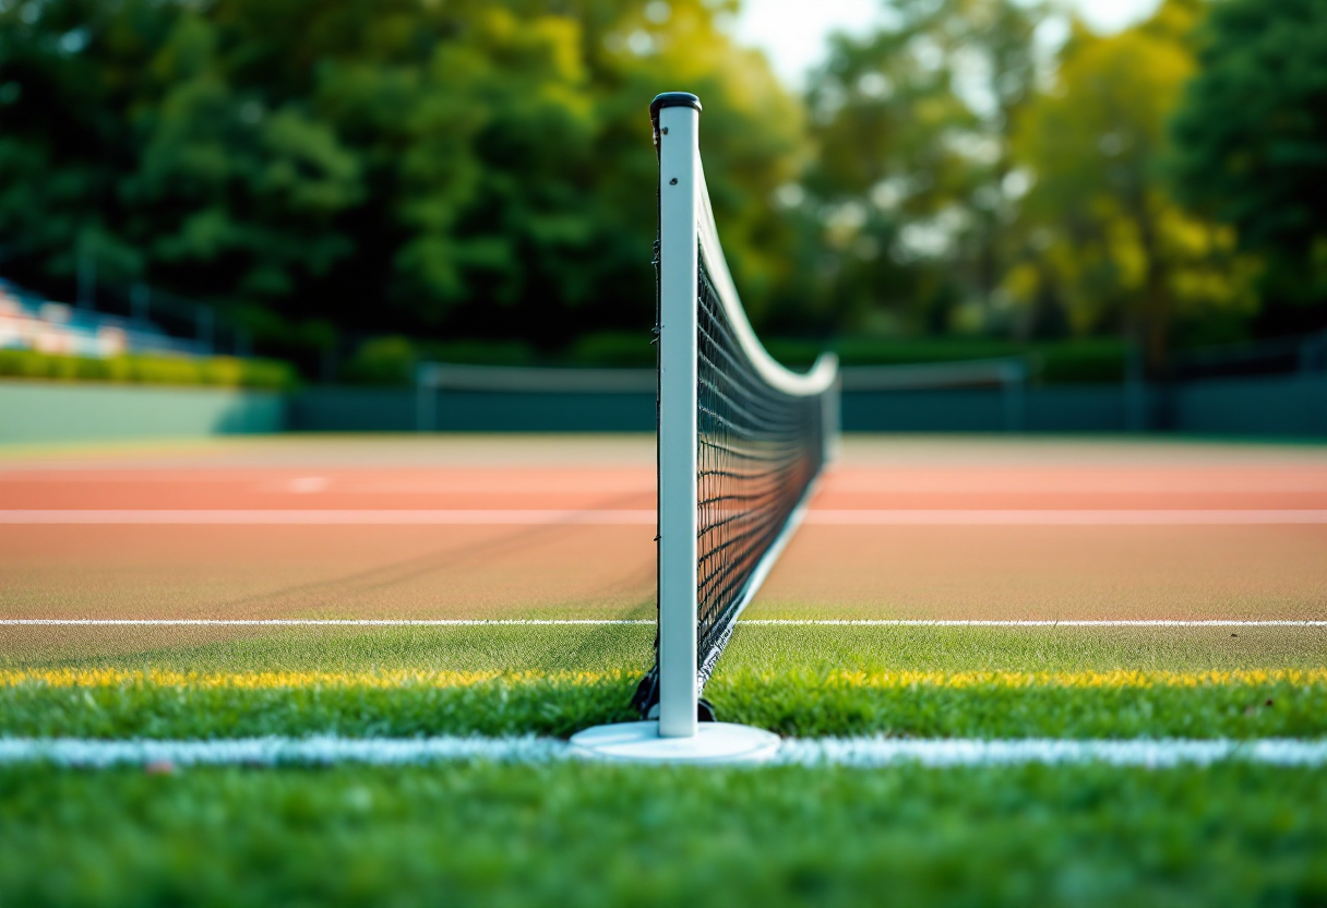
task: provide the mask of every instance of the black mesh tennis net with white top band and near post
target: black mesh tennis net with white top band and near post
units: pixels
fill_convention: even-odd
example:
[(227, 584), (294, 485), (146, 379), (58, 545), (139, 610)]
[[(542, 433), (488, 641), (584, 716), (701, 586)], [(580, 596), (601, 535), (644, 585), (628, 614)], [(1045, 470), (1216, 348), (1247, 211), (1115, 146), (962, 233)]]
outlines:
[[(650, 109), (660, 151), (660, 636), (636, 705), (665, 735), (713, 718), (699, 692), (796, 528), (839, 423), (837, 362), (779, 365), (734, 287), (698, 153), (699, 101)], [(673, 694), (670, 696), (670, 692)], [(689, 730), (690, 729), (690, 730)]]

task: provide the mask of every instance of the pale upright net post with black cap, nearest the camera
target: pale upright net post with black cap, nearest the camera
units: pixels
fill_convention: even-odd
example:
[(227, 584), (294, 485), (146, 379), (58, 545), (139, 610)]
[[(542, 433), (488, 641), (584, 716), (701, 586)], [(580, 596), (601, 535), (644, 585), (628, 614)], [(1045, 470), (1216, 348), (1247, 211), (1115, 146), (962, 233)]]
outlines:
[(660, 725), (697, 734), (699, 104), (652, 105), (660, 153)]

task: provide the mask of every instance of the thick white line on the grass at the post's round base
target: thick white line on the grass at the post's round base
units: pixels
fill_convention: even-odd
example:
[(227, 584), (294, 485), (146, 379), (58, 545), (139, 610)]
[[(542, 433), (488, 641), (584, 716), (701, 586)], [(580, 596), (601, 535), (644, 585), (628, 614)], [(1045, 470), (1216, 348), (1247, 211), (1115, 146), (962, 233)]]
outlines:
[[(105, 769), (153, 763), (170, 766), (236, 763), (277, 766), (354, 762), (399, 766), (472, 759), (549, 763), (592, 758), (577, 751), (565, 741), (533, 735), (511, 738), (341, 738), (324, 735), (214, 741), (0, 738), (0, 765), (44, 762)], [(863, 769), (898, 763), (920, 763), (930, 767), (1105, 763), (1164, 769), (1206, 766), (1220, 762), (1319, 767), (1327, 765), (1327, 739), (802, 738), (783, 741), (771, 762)]]

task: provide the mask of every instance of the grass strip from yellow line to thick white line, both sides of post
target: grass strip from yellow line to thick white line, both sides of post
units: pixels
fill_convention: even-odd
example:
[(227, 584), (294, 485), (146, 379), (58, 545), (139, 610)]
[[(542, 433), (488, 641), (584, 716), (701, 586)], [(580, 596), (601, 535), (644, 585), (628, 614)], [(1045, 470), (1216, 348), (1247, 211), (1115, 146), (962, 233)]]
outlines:
[[(0, 734), (543, 734), (634, 718), (634, 674), (8, 672)], [(784, 735), (1319, 737), (1327, 672), (717, 676), (725, 721)]]

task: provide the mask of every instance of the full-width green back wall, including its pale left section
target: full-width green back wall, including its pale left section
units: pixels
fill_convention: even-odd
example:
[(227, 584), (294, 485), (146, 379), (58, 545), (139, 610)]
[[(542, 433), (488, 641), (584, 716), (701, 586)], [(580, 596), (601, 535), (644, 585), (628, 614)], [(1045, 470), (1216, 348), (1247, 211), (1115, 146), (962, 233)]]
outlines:
[[(1035, 362), (843, 372), (845, 431), (1178, 431), (1327, 437), (1327, 368), (1174, 384), (1035, 385)], [(1327, 364), (1324, 364), (1327, 365)], [(0, 441), (249, 431), (653, 431), (650, 369), (431, 364), (414, 389), (289, 396), (0, 381)]]

